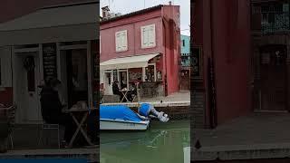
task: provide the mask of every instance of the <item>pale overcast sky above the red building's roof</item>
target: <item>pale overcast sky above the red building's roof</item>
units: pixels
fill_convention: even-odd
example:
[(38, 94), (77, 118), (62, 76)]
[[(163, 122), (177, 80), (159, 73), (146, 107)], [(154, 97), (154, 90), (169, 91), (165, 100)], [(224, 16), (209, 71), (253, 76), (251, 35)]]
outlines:
[[(169, 0), (100, 0), (100, 2), (101, 8), (110, 5), (110, 12), (121, 14), (128, 14), (154, 5), (169, 4)], [(190, 35), (190, 0), (171, 0), (171, 2), (172, 5), (180, 5), (181, 34)], [(100, 10), (100, 15), (102, 15), (102, 10)]]

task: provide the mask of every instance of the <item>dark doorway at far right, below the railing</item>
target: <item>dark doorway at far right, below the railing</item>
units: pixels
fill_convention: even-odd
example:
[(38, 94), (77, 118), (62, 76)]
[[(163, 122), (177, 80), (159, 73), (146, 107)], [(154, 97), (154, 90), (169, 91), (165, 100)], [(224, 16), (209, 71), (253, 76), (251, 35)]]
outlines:
[(285, 45), (260, 48), (261, 110), (286, 110), (286, 52)]

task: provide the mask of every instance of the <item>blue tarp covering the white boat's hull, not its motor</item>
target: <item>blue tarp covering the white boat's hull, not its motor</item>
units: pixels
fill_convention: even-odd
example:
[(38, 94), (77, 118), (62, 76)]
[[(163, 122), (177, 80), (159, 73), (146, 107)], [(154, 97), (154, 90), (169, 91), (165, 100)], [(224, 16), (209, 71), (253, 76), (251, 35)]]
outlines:
[(140, 117), (125, 105), (100, 106), (100, 118), (109, 120), (142, 121)]

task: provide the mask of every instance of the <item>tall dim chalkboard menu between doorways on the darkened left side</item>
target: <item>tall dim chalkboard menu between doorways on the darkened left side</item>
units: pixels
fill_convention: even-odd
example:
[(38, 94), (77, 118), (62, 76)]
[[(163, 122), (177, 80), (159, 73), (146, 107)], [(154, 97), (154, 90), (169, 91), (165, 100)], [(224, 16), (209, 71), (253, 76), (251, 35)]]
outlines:
[(56, 43), (43, 44), (43, 78), (57, 78)]

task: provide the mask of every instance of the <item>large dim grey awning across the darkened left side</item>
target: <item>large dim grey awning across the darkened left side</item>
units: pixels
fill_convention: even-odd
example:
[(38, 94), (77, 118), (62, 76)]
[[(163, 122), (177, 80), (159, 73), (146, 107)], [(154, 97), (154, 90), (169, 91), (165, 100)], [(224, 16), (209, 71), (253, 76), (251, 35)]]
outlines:
[(99, 5), (50, 6), (0, 24), (0, 46), (96, 40)]

